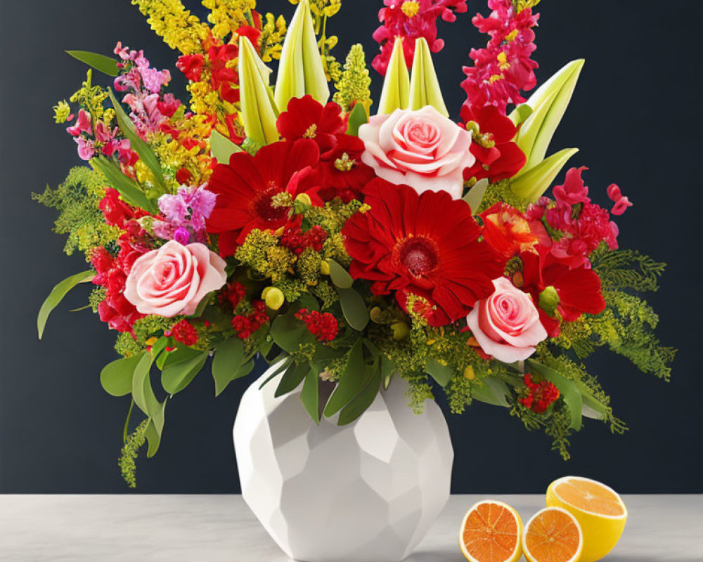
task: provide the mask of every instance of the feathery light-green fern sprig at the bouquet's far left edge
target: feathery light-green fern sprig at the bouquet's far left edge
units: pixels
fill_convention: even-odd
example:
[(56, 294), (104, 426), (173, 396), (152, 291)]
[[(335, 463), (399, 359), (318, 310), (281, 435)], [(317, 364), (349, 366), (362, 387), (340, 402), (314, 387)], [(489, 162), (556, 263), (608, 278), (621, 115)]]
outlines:
[(105, 181), (90, 168), (77, 166), (56, 189), (46, 187), (43, 193), (32, 193), (32, 199), (57, 209), (54, 232), (67, 234), (64, 251), (71, 255), (77, 249), (89, 256), (91, 250), (117, 240), (120, 229), (105, 224), (98, 205), (105, 195)]

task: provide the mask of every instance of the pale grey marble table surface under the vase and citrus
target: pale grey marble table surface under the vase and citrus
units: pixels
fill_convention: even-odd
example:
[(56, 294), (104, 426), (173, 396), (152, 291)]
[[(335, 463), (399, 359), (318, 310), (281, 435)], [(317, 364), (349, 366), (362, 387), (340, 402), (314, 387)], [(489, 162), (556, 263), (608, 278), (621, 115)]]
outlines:
[[(454, 495), (407, 562), (461, 562), (458, 527), (484, 496)], [(541, 495), (499, 495), (527, 519)], [(624, 496), (609, 562), (703, 561), (703, 495)], [(290, 562), (231, 495), (0, 496), (0, 561)]]

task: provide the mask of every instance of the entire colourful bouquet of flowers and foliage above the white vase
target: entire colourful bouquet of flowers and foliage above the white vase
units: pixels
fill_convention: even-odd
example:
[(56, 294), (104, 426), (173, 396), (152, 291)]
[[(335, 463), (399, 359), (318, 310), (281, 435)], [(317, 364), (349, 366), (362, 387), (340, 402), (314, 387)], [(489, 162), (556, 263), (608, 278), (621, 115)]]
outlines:
[(127, 483), (169, 400), (203, 370), (218, 395), (260, 357), (273, 367), (257, 391), (297, 393), (313, 425), (355, 424), (396, 385), (418, 413), (439, 391), (455, 413), (504, 407), (565, 459), (583, 417), (624, 431), (583, 361), (605, 347), (669, 378), (673, 350), (636, 296), (664, 264), (619, 249), (612, 219), (632, 203), (617, 185), (589, 191), (585, 166), (557, 183), (576, 149), (548, 148), (583, 60), (524, 96), (538, 0), (489, 0), (473, 18), (488, 41), (464, 69), (460, 119), (433, 53), (438, 18), (465, 1), (385, 0), (375, 106), (362, 46), (333, 55), (340, 0), (291, 1), (287, 24), (254, 0), (203, 0), (208, 22), (179, 0), (132, 0), (179, 51), (185, 103), (142, 51), (70, 51), (91, 69), (54, 109), (87, 165), (35, 197), (89, 268), (53, 289), (39, 336), (91, 282), (120, 355), (101, 384), (131, 396)]

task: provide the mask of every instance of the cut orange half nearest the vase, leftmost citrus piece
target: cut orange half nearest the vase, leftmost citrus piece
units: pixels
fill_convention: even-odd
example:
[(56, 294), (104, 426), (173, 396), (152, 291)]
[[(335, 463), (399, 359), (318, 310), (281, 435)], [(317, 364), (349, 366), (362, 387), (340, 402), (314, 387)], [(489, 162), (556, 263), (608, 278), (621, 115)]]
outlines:
[(517, 562), (522, 554), (522, 520), (503, 502), (486, 499), (464, 516), (459, 546), (470, 562)]

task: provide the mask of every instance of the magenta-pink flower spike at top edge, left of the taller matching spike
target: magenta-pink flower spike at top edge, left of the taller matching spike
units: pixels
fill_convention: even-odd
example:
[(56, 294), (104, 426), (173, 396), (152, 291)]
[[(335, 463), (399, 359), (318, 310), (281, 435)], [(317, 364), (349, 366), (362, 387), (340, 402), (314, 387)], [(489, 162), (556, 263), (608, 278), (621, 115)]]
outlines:
[(382, 75), (388, 68), (396, 37), (404, 37), (403, 51), (408, 67), (413, 64), (415, 39), (424, 37), (432, 53), (444, 48), (444, 41), (437, 39), (437, 18), (446, 22), (456, 20), (456, 13), (467, 11), (466, 0), (384, 0), (385, 8), (378, 13), (383, 25), (373, 32), (373, 39), (381, 45), (371, 65)]

